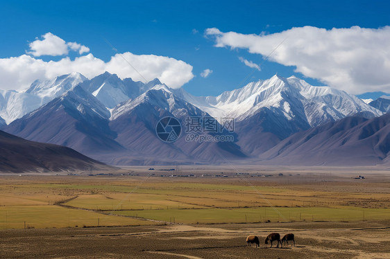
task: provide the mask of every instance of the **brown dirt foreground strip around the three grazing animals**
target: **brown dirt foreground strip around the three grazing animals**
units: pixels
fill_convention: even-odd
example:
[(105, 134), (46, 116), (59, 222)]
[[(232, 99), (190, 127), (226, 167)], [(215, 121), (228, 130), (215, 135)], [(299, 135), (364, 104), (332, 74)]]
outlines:
[[(273, 232), (294, 233), (296, 247), (269, 248)], [(390, 258), (390, 221), (6, 230), (0, 258)]]

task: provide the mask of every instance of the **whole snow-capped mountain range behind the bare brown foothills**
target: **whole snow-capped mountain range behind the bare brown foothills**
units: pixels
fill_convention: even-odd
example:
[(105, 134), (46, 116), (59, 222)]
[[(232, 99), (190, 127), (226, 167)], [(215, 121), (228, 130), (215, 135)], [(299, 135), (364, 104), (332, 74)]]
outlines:
[[(279, 75), (219, 96), (192, 96), (158, 79), (135, 82), (108, 72), (90, 80), (79, 73), (62, 75), (36, 81), (23, 93), (12, 93), (19, 96), (24, 109), (13, 107), (10, 98), (0, 99), (0, 107), (6, 107), (0, 116), (9, 123), (3, 130), (32, 141), (65, 145), (113, 165), (276, 161), (279, 157), (274, 152), (287, 139), (293, 143), (304, 132), (322, 132), (321, 127), (344, 119), (348, 124), (351, 116), (364, 121), (382, 118), (389, 109), (386, 98), (368, 105), (344, 91)], [(36, 107), (37, 102), (31, 101), (35, 99), (42, 105)], [(178, 118), (183, 131), (188, 117), (215, 118), (219, 126), (223, 118), (234, 118), (234, 132), (205, 132), (207, 136), (230, 134), (233, 141), (186, 141), (183, 132), (176, 142), (162, 142), (155, 125), (164, 116)], [(369, 160), (380, 163), (383, 156)], [(297, 163), (301, 162), (305, 159)]]

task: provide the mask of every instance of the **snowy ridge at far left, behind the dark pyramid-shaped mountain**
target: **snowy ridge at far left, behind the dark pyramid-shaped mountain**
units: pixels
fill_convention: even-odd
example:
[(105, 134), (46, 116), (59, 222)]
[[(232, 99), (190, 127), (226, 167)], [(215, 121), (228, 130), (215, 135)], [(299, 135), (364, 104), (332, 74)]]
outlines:
[(121, 80), (108, 72), (91, 80), (80, 73), (60, 75), (52, 80), (35, 80), (24, 92), (0, 90), (0, 116), (9, 124), (61, 96), (77, 84), (92, 93), (105, 107), (112, 109), (120, 102), (136, 98), (161, 82), (158, 79), (146, 84), (135, 82), (131, 78)]

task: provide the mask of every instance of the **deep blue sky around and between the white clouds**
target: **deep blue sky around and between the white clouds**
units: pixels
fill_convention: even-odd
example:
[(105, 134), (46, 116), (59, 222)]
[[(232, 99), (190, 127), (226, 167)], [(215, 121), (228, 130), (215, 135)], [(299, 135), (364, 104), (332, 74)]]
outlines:
[[(216, 47), (215, 35), (205, 37), (205, 30), (273, 35), (303, 26), (378, 29), (390, 25), (388, 10), (388, 1), (9, 1), (2, 2), (0, 8), (0, 58), (26, 54), (29, 42), (50, 32), (65, 42), (87, 46), (94, 57), (104, 62), (116, 54), (106, 40), (119, 53), (182, 60), (192, 66), (194, 75), (183, 87), (195, 95), (217, 95), (275, 73), (284, 77), (296, 75), (316, 85), (334, 82), (332, 86), (337, 87), (341, 83), (324, 81), (319, 73), (307, 73), (319, 75), (311, 78), (294, 72), (296, 66), (285, 65), (289, 60), (264, 61), (261, 51), (250, 53), (249, 47), (237, 47), (230, 42)], [(291, 44), (291, 37), (286, 44)], [(79, 55), (69, 51), (68, 56), (74, 59)], [(36, 58), (48, 62), (63, 57)], [(240, 58), (259, 65), (261, 71), (246, 66)], [(207, 78), (201, 76), (205, 69), (212, 71)], [(148, 76), (144, 75), (153, 79)], [(381, 87), (362, 87), (356, 93), (386, 91), (385, 80), (373, 82)]]

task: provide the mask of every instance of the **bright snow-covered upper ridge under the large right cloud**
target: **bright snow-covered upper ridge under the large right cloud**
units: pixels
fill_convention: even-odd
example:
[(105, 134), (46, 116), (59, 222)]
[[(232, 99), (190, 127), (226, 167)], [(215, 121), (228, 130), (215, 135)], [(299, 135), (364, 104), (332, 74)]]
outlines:
[(311, 127), (364, 111), (372, 116), (382, 115), (378, 109), (373, 109), (345, 91), (331, 87), (313, 87), (294, 76), (282, 78), (274, 75), (269, 80), (251, 82), (219, 96), (196, 97), (183, 90), (181, 92), (185, 100), (212, 116), (228, 116), (237, 121), (257, 114), (263, 107), (279, 109), (289, 120), (298, 117), (305, 119)]

